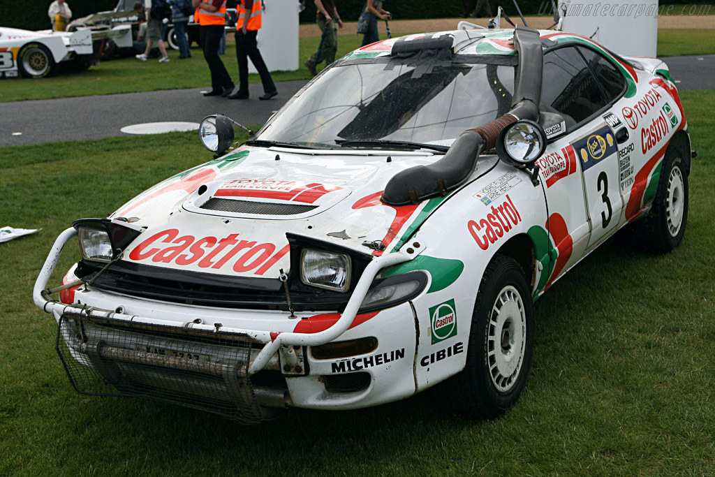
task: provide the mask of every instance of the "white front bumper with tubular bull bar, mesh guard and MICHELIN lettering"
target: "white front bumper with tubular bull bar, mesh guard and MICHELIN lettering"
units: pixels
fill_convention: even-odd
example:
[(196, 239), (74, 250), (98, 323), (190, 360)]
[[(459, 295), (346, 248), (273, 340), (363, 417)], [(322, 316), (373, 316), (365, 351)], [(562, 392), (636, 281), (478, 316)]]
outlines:
[[(74, 235), (68, 229), (57, 238), (36, 280), (34, 300), (58, 323), (57, 350), (79, 393), (151, 398), (244, 423), (271, 418), (272, 410), (287, 406), (358, 408), (414, 393), (415, 316), (410, 305), (381, 311), (378, 326), (351, 325), (375, 275), (421, 250), (376, 258), (335, 323), (317, 333), (295, 333), (288, 330), (297, 320), (287, 328), (283, 312), (192, 308), (87, 285), (77, 303), (51, 300), (46, 282)], [(380, 343), (368, 355), (315, 360), (309, 353), (311, 346), (366, 335)], [(331, 392), (336, 386), (338, 392)], [(351, 386), (354, 392), (345, 392)]]

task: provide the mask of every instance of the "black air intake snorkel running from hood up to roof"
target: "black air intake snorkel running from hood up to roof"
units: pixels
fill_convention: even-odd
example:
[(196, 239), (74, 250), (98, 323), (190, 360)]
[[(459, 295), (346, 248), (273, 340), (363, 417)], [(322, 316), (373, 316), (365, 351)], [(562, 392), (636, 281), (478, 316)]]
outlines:
[[(393, 55), (406, 54), (404, 46), (398, 48), (398, 51), (395, 51), (395, 46)], [(543, 77), (543, 51), (538, 31), (517, 25), (514, 30), (514, 47), (519, 59), (509, 112), (480, 127), (467, 129), (453, 142), (445, 155), (433, 164), (410, 167), (395, 174), (385, 186), (380, 197), (382, 202), (388, 205), (418, 204), (430, 197), (447, 195), (467, 180), (479, 154), (495, 146), (502, 129), (518, 119), (538, 121)]]

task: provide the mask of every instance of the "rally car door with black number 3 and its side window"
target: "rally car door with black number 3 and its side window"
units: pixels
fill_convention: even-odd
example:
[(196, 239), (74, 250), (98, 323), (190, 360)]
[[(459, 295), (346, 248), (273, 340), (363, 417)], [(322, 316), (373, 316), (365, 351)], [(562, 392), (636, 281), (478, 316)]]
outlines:
[(541, 118), (549, 142), (537, 163), (557, 255), (549, 285), (618, 227), (623, 201), (607, 107), (575, 45), (546, 51)]

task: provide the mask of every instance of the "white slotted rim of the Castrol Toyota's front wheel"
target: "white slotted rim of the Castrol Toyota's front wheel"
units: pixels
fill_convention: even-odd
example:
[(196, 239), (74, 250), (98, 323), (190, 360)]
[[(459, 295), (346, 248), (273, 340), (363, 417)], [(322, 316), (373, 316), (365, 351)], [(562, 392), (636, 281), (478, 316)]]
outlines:
[(516, 383), (526, 348), (526, 310), (518, 290), (503, 287), (489, 317), (487, 359), (495, 388), (507, 393)]

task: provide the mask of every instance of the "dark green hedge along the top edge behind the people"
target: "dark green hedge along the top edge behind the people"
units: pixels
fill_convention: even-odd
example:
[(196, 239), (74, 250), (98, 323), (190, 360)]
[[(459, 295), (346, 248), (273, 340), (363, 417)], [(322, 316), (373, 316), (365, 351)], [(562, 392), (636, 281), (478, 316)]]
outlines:
[[(298, 0), (264, 0), (268, 9), (272, 6), (279, 6), (279, 8), (287, 6), (294, 1)], [(345, 21), (356, 21), (365, 6), (365, 0), (335, 1), (337, 11)], [(118, 0), (67, 0), (74, 18), (87, 16), (96, 11), (113, 10), (117, 6), (117, 2)], [(489, 0), (489, 2), (493, 9), (501, 4), (509, 16), (517, 16), (513, 0)], [(50, 3), (51, 0), (0, 0), (1, 25), (28, 30), (47, 29), (50, 27), (49, 16), (47, 16), (47, 8)], [(711, 3), (711, 1), (666, 0), (659, 2), (661, 5), (694, 3)], [(230, 7), (235, 7), (236, 0), (228, 0), (227, 4)], [(551, 0), (519, 0), (518, 4), (525, 15), (551, 14)], [(463, 0), (385, 0), (385, 9), (390, 11), (395, 19), (455, 18), (465, 13), (465, 3)], [(315, 21), (315, 2), (313, 0), (305, 0), (305, 10), (300, 14), (300, 21), (304, 23)]]

